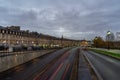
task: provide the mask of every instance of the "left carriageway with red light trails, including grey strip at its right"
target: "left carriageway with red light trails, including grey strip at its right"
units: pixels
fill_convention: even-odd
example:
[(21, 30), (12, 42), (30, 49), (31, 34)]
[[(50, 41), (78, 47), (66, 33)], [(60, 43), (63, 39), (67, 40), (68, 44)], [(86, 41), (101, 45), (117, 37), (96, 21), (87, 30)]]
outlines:
[(92, 80), (79, 47), (64, 48), (0, 73), (0, 80)]

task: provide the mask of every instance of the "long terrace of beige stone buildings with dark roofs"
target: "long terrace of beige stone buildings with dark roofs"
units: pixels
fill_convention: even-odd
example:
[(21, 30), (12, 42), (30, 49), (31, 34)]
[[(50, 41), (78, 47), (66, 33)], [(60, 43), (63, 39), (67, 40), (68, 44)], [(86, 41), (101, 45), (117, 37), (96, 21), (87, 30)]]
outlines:
[[(62, 41), (62, 43), (61, 43)], [(73, 46), (79, 41), (61, 39), (29, 30), (20, 30), (19, 26), (0, 27), (0, 44), (25, 46)]]

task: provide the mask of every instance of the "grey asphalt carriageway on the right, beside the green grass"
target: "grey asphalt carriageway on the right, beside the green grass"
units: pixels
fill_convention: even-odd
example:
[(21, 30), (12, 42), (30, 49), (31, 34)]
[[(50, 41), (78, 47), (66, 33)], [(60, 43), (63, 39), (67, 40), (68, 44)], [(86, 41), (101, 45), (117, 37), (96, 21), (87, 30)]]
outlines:
[(120, 80), (120, 60), (98, 54), (92, 51), (83, 51), (103, 80)]

